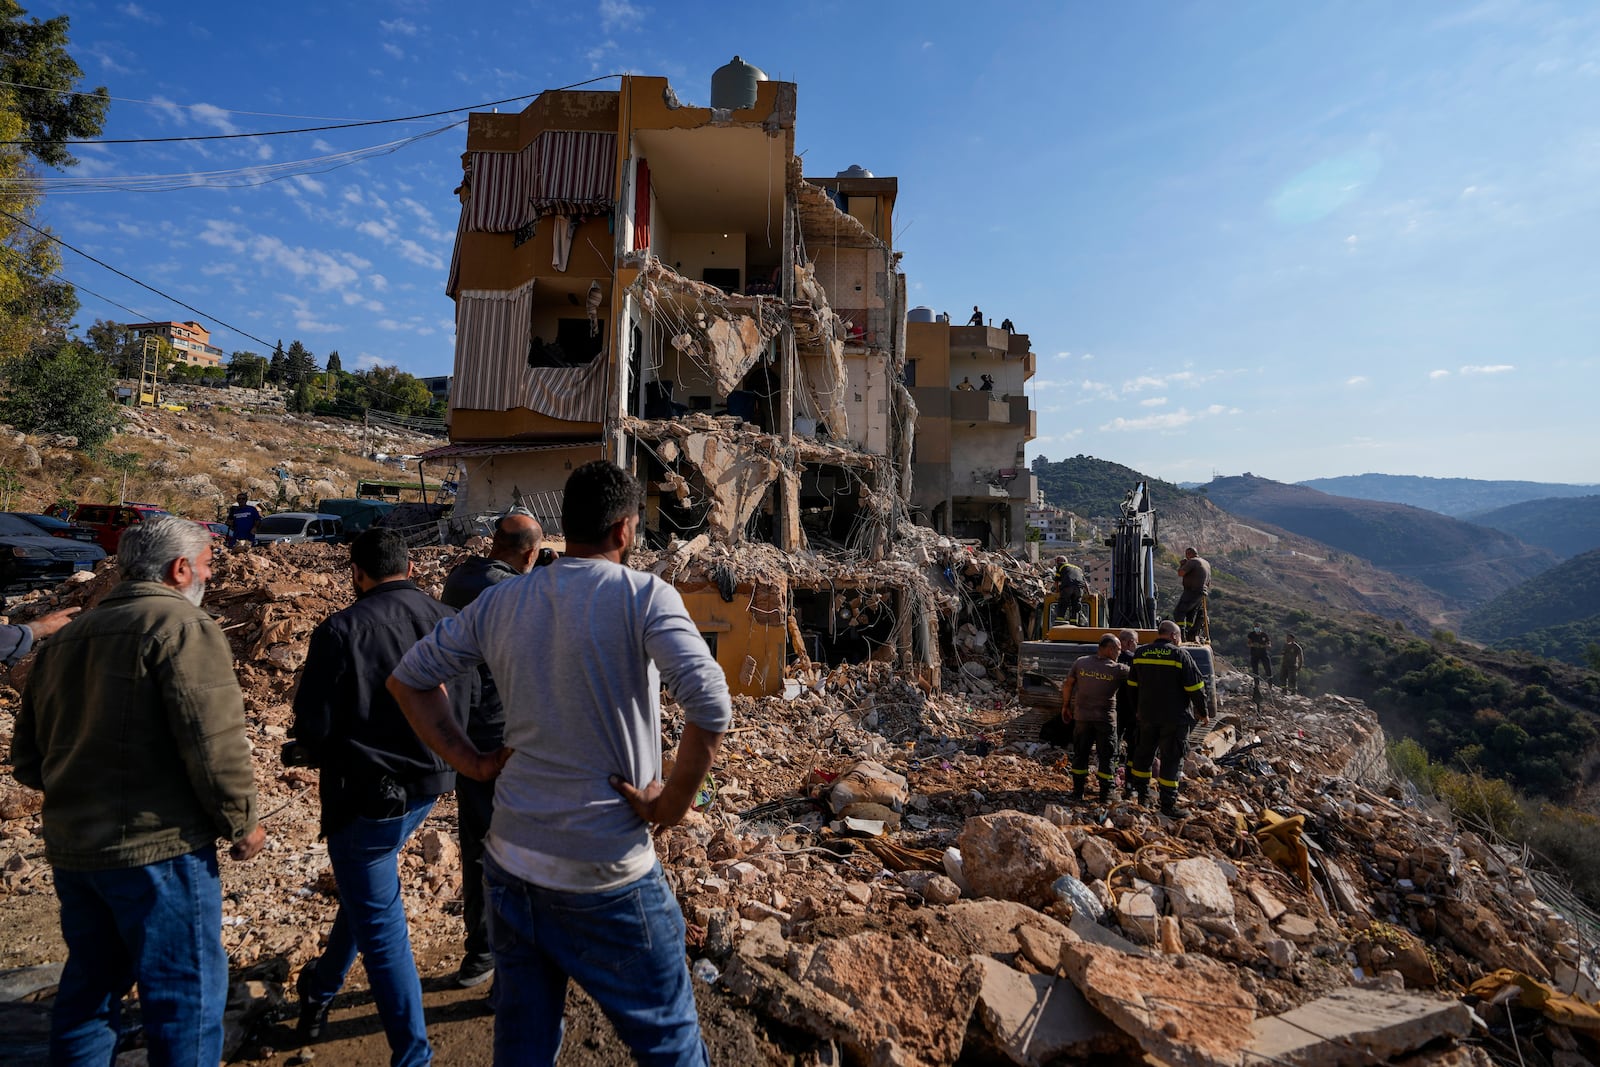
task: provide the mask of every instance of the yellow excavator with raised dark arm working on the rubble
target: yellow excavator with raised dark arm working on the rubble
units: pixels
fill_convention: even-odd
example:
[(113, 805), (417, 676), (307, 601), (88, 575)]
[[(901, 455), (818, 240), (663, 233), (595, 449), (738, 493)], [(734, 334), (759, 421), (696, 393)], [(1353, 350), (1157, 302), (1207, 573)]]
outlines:
[[(1155, 632), (1155, 509), (1144, 482), (1133, 486), (1122, 501), (1122, 514), (1106, 539), (1110, 547), (1110, 595), (1083, 597), (1083, 617), (1058, 619), (1061, 590), (1045, 597), (1043, 640), (1022, 641), (1018, 656), (1018, 699), (1022, 704), (1061, 710), (1061, 683), (1080, 656), (1093, 656), (1101, 637), (1133, 630), (1139, 643), (1157, 638)], [(1205, 630), (1203, 630), (1205, 633)], [(1184, 651), (1205, 675), (1206, 705), (1216, 713), (1216, 675), (1211, 645), (1184, 643)]]

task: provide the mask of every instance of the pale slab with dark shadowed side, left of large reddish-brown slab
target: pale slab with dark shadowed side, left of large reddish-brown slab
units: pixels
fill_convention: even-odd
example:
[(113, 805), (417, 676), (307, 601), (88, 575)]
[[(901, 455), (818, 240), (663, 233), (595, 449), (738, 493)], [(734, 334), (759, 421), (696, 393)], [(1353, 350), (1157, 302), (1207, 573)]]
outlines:
[(973, 957), (982, 973), (978, 1017), (1013, 1064), (1043, 1067), (1061, 1057), (1106, 1056), (1128, 1037), (1083, 998), (1077, 985), (1051, 974), (1022, 974), (990, 957)]

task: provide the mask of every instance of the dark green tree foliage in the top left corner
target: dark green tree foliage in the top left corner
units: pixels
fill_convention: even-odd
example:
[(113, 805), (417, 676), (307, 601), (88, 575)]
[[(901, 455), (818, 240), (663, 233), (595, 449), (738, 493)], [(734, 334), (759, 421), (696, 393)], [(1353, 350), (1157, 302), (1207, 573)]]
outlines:
[(61, 142), (98, 138), (110, 94), (104, 85), (75, 91), (83, 69), (67, 54), (66, 14), (45, 22), (26, 16), (22, 5), (0, 0), (0, 82), (30, 86), (10, 104), (21, 133), (5, 139), (27, 139), (26, 152), (46, 166), (70, 166), (77, 160)]

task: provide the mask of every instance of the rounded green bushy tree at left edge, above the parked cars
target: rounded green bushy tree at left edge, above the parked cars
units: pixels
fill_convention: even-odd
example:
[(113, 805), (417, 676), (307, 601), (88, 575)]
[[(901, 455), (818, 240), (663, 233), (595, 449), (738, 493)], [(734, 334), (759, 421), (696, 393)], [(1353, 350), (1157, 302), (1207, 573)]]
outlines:
[(38, 346), (0, 366), (0, 421), (24, 434), (70, 434), (83, 448), (117, 427), (110, 366), (77, 341)]

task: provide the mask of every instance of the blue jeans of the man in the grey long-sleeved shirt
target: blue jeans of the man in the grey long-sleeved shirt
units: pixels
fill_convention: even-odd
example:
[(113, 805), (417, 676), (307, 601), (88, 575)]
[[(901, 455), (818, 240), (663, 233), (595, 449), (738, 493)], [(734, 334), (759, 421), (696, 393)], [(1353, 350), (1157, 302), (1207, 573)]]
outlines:
[(566, 979), (576, 981), (643, 1067), (707, 1067), (683, 957), (683, 912), (656, 864), (605, 893), (558, 893), (483, 857), (494, 947), (494, 1062), (554, 1064)]

